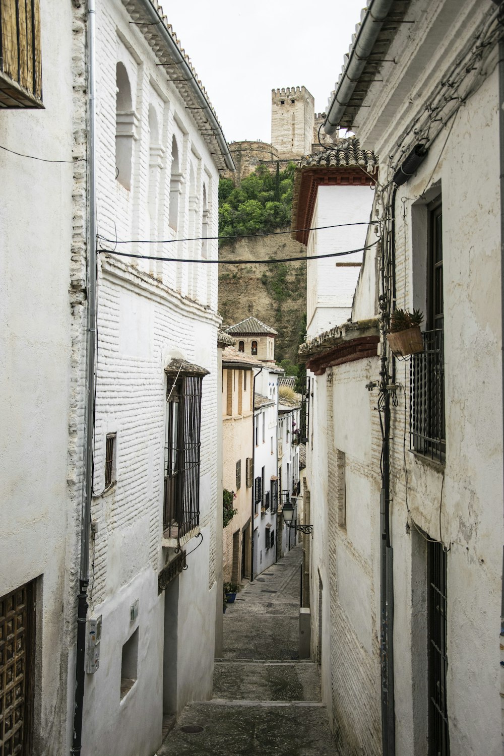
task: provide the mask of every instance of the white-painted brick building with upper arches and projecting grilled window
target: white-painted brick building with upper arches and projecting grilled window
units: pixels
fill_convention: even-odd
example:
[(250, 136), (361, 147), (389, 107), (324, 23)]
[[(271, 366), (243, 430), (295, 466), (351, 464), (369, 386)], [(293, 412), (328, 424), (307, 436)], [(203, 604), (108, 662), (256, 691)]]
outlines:
[(221, 366), (217, 265), (205, 261), (218, 254), (207, 240), (218, 232), (218, 172), (233, 163), (157, 5), (102, 3), (96, 27), (88, 626), (99, 621), (101, 634), (99, 666), (85, 678), (82, 742), (89, 753), (151, 756), (163, 719), (212, 693)]

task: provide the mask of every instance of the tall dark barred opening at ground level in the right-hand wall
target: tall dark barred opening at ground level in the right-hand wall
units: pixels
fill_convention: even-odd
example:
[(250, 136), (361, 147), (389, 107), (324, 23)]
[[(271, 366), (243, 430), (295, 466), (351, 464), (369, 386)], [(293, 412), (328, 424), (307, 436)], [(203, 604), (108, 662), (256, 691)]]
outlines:
[(449, 756), (447, 713), (447, 552), (427, 544), (428, 582), (428, 754)]

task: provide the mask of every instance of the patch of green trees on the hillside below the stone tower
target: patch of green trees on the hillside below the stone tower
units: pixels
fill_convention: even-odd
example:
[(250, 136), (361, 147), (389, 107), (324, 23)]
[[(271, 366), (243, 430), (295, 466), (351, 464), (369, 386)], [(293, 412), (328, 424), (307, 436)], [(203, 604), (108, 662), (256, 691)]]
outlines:
[[(278, 168), (278, 166), (277, 166)], [(295, 164), (271, 173), (258, 166), (235, 187), (230, 178), (219, 181), (219, 236), (261, 234), (290, 223)], [(221, 244), (226, 240), (221, 240)]]

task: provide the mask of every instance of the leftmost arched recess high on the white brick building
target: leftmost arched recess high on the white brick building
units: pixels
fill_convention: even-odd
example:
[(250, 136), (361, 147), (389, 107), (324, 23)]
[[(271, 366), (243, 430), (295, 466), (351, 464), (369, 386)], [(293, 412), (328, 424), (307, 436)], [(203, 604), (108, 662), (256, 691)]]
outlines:
[(131, 102), (131, 86), (125, 65), (116, 66), (116, 178), (128, 191), (131, 189), (131, 153), (135, 113)]

